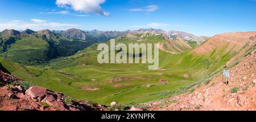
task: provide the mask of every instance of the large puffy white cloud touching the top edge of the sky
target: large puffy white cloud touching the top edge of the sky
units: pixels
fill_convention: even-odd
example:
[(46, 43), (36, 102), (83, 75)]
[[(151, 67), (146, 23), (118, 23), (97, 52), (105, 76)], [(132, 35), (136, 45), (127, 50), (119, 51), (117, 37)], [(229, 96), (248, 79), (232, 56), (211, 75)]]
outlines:
[(80, 12), (93, 12), (102, 16), (109, 16), (109, 12), (102, 10), (101, 4), (106, 0), (56, 0), (58, 7), (72, 8)]

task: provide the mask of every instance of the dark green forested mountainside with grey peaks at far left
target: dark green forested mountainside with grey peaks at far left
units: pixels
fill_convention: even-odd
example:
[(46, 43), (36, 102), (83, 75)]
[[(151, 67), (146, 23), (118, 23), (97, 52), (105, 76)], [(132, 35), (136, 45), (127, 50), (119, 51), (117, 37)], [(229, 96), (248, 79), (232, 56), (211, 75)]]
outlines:
[(91, 38), (87, 39), (67, 38), (48, 29), (39, 32), (6, 29), (0, 34), (0, 53), (21, 64), (42, 64), (60, 56), (73, 55), (95, 43)]

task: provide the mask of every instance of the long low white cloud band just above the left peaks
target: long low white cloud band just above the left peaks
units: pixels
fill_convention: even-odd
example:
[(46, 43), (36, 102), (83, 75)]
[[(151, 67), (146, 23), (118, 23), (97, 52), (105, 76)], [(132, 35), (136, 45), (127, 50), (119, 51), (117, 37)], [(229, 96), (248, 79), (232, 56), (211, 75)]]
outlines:
[(54, 23), (54, 22), (41, 22), (41, 23), (27, 23), (24, 21), (1, 21), (0, 31), (4, 29), (15, 29), (15, 30), (24, 30), (32, 29), (34, 31), (40, 31), (42, 29), (49, 30), (67, 30), (69, 28), (79, 27), (77, 24), (67, 24), (67, 23)]

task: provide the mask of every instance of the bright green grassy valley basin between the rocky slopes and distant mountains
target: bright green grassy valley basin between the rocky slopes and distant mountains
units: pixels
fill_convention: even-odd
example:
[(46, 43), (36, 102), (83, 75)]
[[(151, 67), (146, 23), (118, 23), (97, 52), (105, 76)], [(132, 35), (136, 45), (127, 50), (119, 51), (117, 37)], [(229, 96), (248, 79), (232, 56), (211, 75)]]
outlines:
[[(158, 43), (162, 39), (155, 36), (135, 42)], [(116, 43), (129, 42), (134, 40), (123, 39)], [(73, 99), (87, 99), (100, 104), (116, 101), (126, 105), (154, 101), (189, 91), (192, 86), (216, 75), (236, 54), (231, 50), (222, 52), (225, 46), (208, 55), (189, 52), (169, 54), (159, 51), (159, 67), (162, 70), (152, 71), (148, 70), (149, 64), (99, 64), (97, 55), (100, 52), (96, 49), (97, 44), (79, 51), (76, 55), (52, 60), (47, 66), (21, 66), (4, 58), (0, 58), (0, 63), (13, 75), (32, 84), (60, 91)], [(167, 81), (159, 82), (160, 79)], [(116, 81), (110, 82), (114, 80)]]

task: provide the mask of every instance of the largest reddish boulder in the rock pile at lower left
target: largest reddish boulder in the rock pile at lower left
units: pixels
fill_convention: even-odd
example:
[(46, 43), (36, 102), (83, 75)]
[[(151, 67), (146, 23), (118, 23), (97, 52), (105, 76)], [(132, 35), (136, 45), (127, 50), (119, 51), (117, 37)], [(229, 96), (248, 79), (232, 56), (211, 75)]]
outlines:
[(42, 99), (44, 95), (46, 95), (47, 89), (42, 88), (40, 86), (31, 86), (28, 90), (26, 90), (26, 95), (30, 96), (32, 99)]

